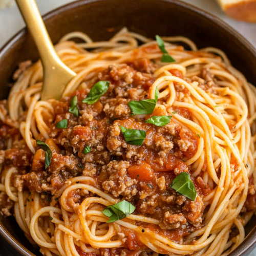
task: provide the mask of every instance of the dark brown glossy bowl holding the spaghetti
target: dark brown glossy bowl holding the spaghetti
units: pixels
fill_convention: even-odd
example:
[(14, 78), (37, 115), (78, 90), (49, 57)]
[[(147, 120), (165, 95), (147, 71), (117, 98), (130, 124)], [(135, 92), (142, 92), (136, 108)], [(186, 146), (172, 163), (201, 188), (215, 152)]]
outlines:
[[(156, 34), (187, 36), (199, 48), (213, 46), (223, 50), (233, 66), (256, 84), (256, 50), (248, 41), (218, 18), (176, 0), (81, 0), (45, 15), (44, 20), (54, 44), (71, 31), (86, 32), (94, 40), (108, 40), (124, 26), (151, 38)], [(108, 28), (113, 28), (113, 32), (108, 32)], [(18, 63), (27, 59), (37, 60), (38, 52), (23, 29), (0, 52), (1, 99), (8, 96)], [(0, 233), (15, 255), (40, 255), (13, 217), (0, 216)], [(247, 255), (253, 249), (255, 217), (246, 225), (246, 236), (230, 255)]]

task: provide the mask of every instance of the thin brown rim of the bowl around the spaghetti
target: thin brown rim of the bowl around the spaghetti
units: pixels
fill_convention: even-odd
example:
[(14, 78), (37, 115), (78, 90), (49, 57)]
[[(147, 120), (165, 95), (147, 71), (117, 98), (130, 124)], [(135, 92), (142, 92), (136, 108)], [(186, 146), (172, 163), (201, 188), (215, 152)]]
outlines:
[[(47, 12), (46, 14), (42, 15), (42, 19), (45, 21), (67, 10), (74, 9), (79, 6), (87, 5), (94, 2), (101, 2), (101, 1), (106, 1), (106, 0), (77, 0), (75, 2), (71, 2), (63, 6), (60, 6), (50, 12)], [(131, 0), (131, 1), (136, 1), (136, 0)], [(215, 16), (214, 14), (211, 14), (205, 10), (202, 10), (196, 6), (193, 6), (186, 2), (182, 2), (180, 0), (154, 0), (154, 1), (175, 4), (181, 8), (188, 9), (189, 11), (192, 11), (194, 13), (197, 13), (203, 16), (204, 18), (209, 19), (211, 22), (214, 22), (218, 27), (221, 27), (222, 29), (227, 31), (229, 34), (236, 36), (240, 44), (243, 45), (246, 49), (248, 49), (249, 52), (256, 59), (256, 48), (237, 30), (233, 29), (230, 25), (225, 23), (222, 19)], [(5, 55), (5, 53), (10, 49), (10, 47), (13, 44), (15, 44), (15, 42), (17, 42), (20, 38), (22, 38), (27, 33), (28, 33), (28, 30), (26, 26), (23, 29), (19, 30), (17, 33), (15, 33), (0, 49), (0, 58), (2, 58), (3, 55)], [(19, 243), (10, 234), (7, 228), (2, 224), (1, 220), (0, 220), (0, 236), (8, 243), (8, 245), (12, 249), (20, 253), (20, 256), (36, 256), (34, 253), (29, 251), (24, 245)], [(229, 256), (240, 256), (244, 254), (246, 251), (252, 250), (256, 246), (255, 242), (256, 242), (256, 226), (250, 231), (250, 233), (246, 236), (244, 241), (229, 254)]]

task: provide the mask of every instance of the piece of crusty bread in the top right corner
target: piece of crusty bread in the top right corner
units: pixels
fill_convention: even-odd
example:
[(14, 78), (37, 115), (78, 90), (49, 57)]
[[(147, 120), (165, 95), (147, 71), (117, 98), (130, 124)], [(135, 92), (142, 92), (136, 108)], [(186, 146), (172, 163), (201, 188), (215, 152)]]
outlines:
[(221, 8), (232, 18), (256, 23), (256, 0), (218, 0)]

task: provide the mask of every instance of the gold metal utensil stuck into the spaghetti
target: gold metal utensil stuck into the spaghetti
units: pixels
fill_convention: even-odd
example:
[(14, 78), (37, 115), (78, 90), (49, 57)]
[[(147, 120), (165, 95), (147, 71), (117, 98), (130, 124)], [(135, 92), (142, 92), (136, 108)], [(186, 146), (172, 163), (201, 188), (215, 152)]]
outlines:
[(76, 73), (69, 69), (55, 52), (35, 0), (16, 0), (16, 3), (35, 41), (42, 62), (44, 82), (41, 100), (60, 99)]

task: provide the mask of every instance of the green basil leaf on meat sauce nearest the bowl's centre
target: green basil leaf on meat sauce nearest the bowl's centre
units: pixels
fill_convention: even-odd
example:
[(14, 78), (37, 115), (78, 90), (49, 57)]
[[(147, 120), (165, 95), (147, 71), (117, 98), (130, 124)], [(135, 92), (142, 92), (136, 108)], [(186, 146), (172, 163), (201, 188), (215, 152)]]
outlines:
[(131, 145), (141, 146), (146, 138), (146, 132), (143, 130), (126, 129), (120, 126), (124, 140)]

